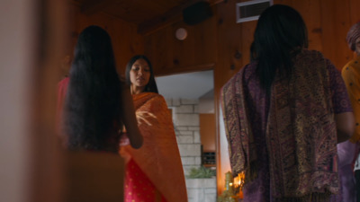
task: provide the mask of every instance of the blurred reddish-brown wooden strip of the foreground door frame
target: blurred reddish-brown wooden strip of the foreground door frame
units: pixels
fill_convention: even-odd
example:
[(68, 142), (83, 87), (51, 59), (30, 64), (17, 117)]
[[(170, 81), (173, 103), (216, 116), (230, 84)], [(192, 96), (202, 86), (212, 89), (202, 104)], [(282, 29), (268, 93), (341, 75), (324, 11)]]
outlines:
[(35, 62), (31, 68), (31, 201), (63, 201), (64, 154), (55, 132), (59, 61), (66, 48), (67, 1), (32, 0)]

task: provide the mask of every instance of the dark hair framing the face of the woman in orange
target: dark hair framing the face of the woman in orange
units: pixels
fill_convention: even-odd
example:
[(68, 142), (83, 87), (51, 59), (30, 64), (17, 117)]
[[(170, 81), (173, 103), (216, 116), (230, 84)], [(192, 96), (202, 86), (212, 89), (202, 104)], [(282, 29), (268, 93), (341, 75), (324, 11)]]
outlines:
[(144, 55), (137, 55), (134, 57), (131, 57), (128, 64), (126, 65), (125, 75), (126, 75), (126, 83), (131, 86), (130, 81), (130, 70), (131, 66), (136, 62), (138, 59), (144, 59), (148, 63), (148, 68), (150, 69), (150, 79), (148, 80), (148, 84), (145, 86), (144, 92), (156, 92), (157, 91), (157, 83), (155, 82), (155, 76), (152, 71), (152, 66), (150, 63), (150, 60), (148, 60), (148, 57)]

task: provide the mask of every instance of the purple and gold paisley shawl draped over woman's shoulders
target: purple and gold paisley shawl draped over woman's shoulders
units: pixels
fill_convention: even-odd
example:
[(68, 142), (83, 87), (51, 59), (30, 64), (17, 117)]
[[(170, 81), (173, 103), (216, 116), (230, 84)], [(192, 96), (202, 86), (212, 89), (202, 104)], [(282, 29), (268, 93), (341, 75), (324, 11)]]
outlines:
[[(303, 50), (294, 61), (293, 77), (276, 76), (271, 90), (266, 127), (271, 192), (285, 201), (320, 200), (339, 189), (329, 72), (317, 51)], [(231, 169), (246, 171), (251, 181), (257, 176), (257, 154), (243, 72), (223, 86), (221, 98)]]

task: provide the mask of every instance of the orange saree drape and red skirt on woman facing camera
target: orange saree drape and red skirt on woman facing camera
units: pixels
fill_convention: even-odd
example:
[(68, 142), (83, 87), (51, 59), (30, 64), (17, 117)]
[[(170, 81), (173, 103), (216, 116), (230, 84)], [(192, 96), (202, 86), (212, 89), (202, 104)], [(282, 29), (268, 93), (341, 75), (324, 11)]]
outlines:
[[(146, 117), (148, 123), (139, 122), (139, 129), (144, 137), (144, 143), (139, 149), (133, 149), (130, 145), (121, 146), (121, 154), (130, 157), (126, 173), (125, 200), (186, 202), (183, 165), (165, 99), (157, 93), (143, 92), (133, 95), (133, 100), (137, 113), (146, 116), (149, 112), (155, 117)], [(156, 190), (144, 191), (150, 195), (155, 193), (149, 197), (141, 196), (144, 192), (139, 186), (135, 186), (133, 180), (143, 181), (143, 188), (152, 184)], [(151, 185), (147, 189), (151, 189)]]

